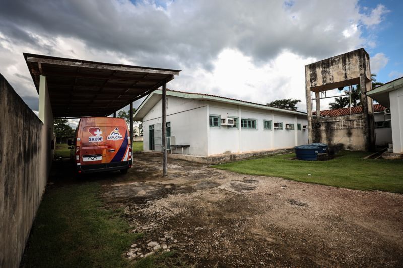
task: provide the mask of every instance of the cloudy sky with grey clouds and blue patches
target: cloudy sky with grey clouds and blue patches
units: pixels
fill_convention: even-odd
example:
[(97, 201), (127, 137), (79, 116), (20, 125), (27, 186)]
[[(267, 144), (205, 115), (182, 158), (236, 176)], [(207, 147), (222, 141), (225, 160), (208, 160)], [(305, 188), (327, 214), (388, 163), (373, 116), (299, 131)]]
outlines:
[(181, 69), (168, 88), (302, 111), (306, 64), (364, 47), (379, 81), (403, 76), (399, 0), (0, 3), (0, 73), (33, 110), (23, 52)]

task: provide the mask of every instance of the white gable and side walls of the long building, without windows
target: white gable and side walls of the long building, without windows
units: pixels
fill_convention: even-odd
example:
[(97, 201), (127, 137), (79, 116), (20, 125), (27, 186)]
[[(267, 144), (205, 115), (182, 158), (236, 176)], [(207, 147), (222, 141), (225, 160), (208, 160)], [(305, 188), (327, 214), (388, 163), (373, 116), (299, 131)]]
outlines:
[[(143, 118), (144, 150), (149, 150), (149, 126), (162, 122), (161, 100)], [(257, 129), (229, 128), (227, 126), (210, 127), (209, 116), (221, 118), (238, 117), (257, 120)], [(283, 130), (267, 130), (263, 120), (283, 122)], [(176, 144), (190, 145), (189, 154), (209, 156), (224, 153), (240, 153), (261, 150), (291, 148), (308, 142), (308, 131), (302, 130), (307, 125), (304, 115), (272, 112), (239, 105), (213, 101), (185, 99), (169, 96), (167, 122), (171, 122), (171, 136)], [(286, 123), (294, 123), (295, 130), (284, 129)], [(297, 130), (297, 123), (301, 130)]]

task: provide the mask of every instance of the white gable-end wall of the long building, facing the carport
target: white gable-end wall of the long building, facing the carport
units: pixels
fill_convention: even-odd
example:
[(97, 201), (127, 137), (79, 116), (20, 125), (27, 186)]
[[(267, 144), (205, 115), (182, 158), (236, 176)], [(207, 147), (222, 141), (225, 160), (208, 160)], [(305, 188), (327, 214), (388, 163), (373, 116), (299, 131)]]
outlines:
[[(167, 96), (167, 122), (175, 145), (190, 145), (189, 154), (207, 155), (207, 106), (192, 99)], [(207, 120), (206, 120), (207, 118)], [(162, 124), (162, 100), (143, 118), (143, 150), (149, 150), (149, 126)]]

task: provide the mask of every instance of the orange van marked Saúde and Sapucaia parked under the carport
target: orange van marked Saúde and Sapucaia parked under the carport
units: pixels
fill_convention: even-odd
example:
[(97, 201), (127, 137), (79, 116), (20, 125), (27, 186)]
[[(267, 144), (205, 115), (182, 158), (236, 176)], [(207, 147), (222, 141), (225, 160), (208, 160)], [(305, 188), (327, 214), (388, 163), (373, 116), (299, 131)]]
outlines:
[(86, 117), (79, 122), (76, 136), (76, 164), (79, 173), (121, 170), (132, 164), (131, 142), (122, 118)]

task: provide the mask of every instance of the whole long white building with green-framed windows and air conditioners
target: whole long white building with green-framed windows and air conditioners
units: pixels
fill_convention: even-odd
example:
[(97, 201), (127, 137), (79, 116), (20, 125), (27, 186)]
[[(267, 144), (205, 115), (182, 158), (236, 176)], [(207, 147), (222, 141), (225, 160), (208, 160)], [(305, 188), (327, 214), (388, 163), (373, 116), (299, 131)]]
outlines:
[[(144, 150), (161, 151), (162, 91), (152, 92), (134, 120), (143, 121)], [(221, 123), (234, 119), (234, 126)], [(186, 153), (210, 156), (292, 148), (308, 142), (307, 115), (208, 94), (167, 90), (167, 137), (190, 145)], [(169, 147), (167, 147), (169, 149)]]

